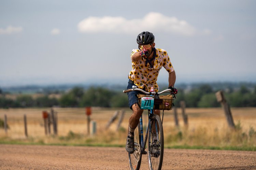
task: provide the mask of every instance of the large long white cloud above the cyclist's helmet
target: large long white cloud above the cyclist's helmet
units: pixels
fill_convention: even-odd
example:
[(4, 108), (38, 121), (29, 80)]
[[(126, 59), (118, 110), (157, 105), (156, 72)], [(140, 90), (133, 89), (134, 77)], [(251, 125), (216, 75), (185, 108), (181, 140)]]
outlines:
[(77, 25), (82, 33), (127, 33), (133, 34), (144, 30), (152, 32), (166, 32), (192, 36), (196, 30), (185, 20), (165, 16), (161, 13), (151, 12), (140, 19), (127, 20), (124, 17), (88, 17)]

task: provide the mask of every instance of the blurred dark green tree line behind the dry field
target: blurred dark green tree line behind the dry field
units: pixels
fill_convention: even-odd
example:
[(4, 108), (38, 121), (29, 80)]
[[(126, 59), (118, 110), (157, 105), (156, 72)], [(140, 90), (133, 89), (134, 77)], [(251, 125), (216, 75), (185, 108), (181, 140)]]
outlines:
[[(174, 105), (179, 107), (180, 101), (186, 102), (186, 107), (220, 107), (216, 101), (215, 92), (209, 84), (201, 84), (197, 88), (189, 91), (178, 88), (177, 99)], [(33, 99), (31, 95), (21, 94), (16, 99), (7, 98), (0, 89), (0, 107), (129, 107), (127, 94), (122, 91), (111, 91), (103, 87), (74, 87), (61, 94), (59, 99), (49, 97), (49, 92), (44, 96)], [(238, 90), (228, 88), (225, 90), (225, 97), (231, 107), (255, 107), (256, 106), (256, 86), (248, 89), (241, 86)]]

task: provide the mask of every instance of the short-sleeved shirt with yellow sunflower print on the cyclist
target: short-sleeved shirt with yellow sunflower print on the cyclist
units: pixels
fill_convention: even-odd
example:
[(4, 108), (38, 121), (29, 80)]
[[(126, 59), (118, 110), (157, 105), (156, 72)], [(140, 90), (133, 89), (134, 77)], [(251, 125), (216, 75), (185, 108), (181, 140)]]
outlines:
[[(137, 49), (133, 49), (131, 57), (136, 53)], [(128, 78), (134, 82), (138, 88), (143, 89), (145, 87), (146, 91), (150, 91), (151, 87), (154, 87), (155, 92), (159, 90), (156, 83), (157, 77), (162, 66), (170, 73), (174, 71), (172, 63), (167, 52), (163, 49), (156, 48), (156, 58), (154, 61), (154, 67), (151, 68), (150, 64), (146, 64), (146, 59), (142, 58), (136, 62), (132, 61), (132, 70), (130, 71)]]

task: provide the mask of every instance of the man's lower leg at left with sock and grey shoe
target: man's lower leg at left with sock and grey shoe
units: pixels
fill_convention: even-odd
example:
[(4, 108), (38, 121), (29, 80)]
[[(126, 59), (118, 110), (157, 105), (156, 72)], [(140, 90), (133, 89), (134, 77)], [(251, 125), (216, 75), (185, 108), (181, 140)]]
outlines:
[(140, 117), (143, 113), (142, 109), (139, 109), (137, 103), (132, 105), (132, 115), (129, 119), (129, 132), (128, 137), (126, 140), (126, 151), (129, 153), (134, 152), (134, 130), (136, 129), (137, 125), (139, 124)]

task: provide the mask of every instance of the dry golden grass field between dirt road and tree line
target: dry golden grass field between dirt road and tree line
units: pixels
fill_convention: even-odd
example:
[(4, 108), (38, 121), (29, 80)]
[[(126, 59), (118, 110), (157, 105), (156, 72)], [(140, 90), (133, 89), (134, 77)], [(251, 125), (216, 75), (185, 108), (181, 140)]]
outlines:
[[(119, 130), (117, 117), (108, 130), (105, 129), (115, 111), (123, 108), (92, 108), (91, 120), (97, 123), (97, 133), (87, 134), (85, 108), (54, 108), (58, 116), (58, 135), (45, 135), (42, 111), (51, 108), (0, 109), (0, 119), (6, 114), (7, 134), (0, 129), (0, 142), (21, 142), (61, 145), (124, 146), (131, 110), (125, 109), (125, 117)], [(186, 108), (188, 128), (184, 127), (181, 109), (177, 108), (180, 127), (175, 127), (173, 111), (165, 111), (163, 129), (165, 147), (198, 146), (218, 148), (256, 148), (256, 108), (231, 108), (236, 130), (230, 130), (222, 108)], [(27, 116), (28, 138), (24, 133), (24, 114)], [(162, 113), (161, 113), (162, 118)], [(147, 113), (143, 113), (143, 125), (147, 125)], [(53, 129), (51, 129), (53, 134)], [(253, 149), (252, 149), (253, 148)]]

